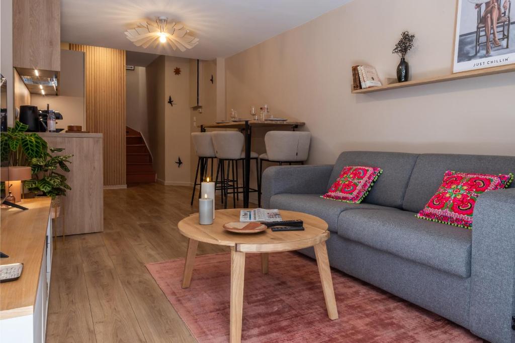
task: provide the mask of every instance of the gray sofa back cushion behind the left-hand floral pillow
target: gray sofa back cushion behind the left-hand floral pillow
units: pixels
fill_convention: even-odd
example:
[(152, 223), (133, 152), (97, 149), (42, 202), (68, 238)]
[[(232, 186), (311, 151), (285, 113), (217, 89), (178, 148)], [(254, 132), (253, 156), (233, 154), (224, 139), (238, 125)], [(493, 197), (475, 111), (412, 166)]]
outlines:
[(401, 208), (409, 176), (417, 156), (417, 154), (398, 152), (342, 152), (336, 160), (327, 189), (336, 181), (345, 166), (378, 167), (383, 169), (383, 173), (374, 183), (374, 187), (372, 187), (363, 203)]

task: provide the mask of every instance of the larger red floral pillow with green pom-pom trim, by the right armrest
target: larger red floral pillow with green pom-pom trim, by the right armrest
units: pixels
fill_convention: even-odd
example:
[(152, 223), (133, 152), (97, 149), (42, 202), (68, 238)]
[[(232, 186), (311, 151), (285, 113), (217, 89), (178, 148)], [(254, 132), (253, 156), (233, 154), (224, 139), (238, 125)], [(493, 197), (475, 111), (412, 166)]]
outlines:
[(472, 212), (479, 195), (508, 187), (513, 175), (468, 174), (448, 170), (440, 188), (418, 218), (472, 228)]

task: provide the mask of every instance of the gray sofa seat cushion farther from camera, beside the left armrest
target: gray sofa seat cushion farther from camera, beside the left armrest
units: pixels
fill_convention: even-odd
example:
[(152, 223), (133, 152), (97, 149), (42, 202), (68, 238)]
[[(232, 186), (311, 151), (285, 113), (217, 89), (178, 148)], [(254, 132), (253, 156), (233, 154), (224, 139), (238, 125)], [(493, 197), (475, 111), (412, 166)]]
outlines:
[(327, 200), (317, 194), (276, 194), (270, 198), (269, 208), (297, 211), (316, 215), (329, 225), (329, 231), (336, 232), (338, 216), (341, 212), (354, 209), (382, 209), (399, 211), (393, 207), (384, 207), (373, 204), (350, 204), (340, 201)]

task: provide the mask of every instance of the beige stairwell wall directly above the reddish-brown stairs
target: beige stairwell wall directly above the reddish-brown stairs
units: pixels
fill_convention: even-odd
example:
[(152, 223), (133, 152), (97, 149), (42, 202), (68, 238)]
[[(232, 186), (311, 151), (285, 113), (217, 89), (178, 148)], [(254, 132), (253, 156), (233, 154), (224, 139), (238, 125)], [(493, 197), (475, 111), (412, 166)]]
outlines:
[(139, 131), (148, 142), (147, 79), (145, 67), (126, 70), (127, 126)]

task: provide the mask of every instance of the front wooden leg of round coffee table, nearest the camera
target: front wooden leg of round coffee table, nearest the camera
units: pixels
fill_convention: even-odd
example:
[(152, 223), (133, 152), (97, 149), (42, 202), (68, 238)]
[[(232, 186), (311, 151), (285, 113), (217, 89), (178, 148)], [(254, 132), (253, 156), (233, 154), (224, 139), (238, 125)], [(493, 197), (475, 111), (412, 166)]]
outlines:
[(230, 342), (242, 341), (243, 283), (245, 277), (245, 252), (231, 247), (231, 321)]

